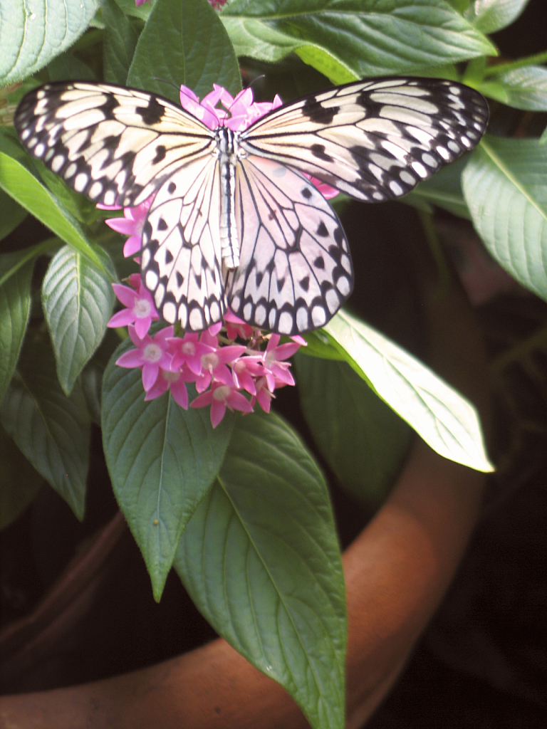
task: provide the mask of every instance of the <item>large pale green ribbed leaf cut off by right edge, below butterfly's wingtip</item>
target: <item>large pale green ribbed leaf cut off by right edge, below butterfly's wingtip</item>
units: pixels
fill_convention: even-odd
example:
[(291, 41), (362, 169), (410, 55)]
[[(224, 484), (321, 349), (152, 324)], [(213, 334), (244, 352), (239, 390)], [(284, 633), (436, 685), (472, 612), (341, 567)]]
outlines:
[(486, 137), (465, 168), (463, 190), (492, 256), (547, 300), (547, 147)]

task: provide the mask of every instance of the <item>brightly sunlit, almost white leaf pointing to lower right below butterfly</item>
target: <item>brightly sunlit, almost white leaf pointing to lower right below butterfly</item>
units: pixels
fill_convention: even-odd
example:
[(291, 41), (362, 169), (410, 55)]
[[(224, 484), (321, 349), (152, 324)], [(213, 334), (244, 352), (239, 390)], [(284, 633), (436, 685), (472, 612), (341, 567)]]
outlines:
[(476, 409), (429, 367), (347, 311), (338, 312), (323, 331), (434, 451), (478, 471), (493, 470)]

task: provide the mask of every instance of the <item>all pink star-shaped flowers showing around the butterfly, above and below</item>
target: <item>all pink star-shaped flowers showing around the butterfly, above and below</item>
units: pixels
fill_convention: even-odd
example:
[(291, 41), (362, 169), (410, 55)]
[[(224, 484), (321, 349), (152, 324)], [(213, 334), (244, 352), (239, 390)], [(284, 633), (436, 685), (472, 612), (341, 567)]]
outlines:
[[(253, 101), (249, 88), (234, 98), (217, 85), (201, 102), (192, 90), (182, 86), (180, 101), (187, 112), (210, 129), (225, 125), (234, 131), (246, 129), (282, 104), (279, 96), (271, 104), (259, 104)], [(217, 109), (217, 104), (224, 108)], [(325, 198), (338, 194), (338, 190), (325, 183), (313, 178), (311, 181)], [(118, 233), (129, 236), (123, 248), (125, 257), (134, 257), (141, 250), (142, 227), (152, 201), (153, 197), (135, 208), (125, 208), (124, 217), (106, 220), (106, 224)], [(128, 284), (113, 284), (115, 294), (125, 308), (115, 313), (108, 325), (128, 327), (135, 348), (120, 356), (116, 364), (140, 368), (146, 393), (144, 399), (151, 400), (170, 391), (181, 408), (187, 409), (187, 383), (195, 383), (198, 397), (190, 405), (192, 408), (211, 405), (211, 422), (216, 427), (226, 408), (250, 413), (258, 402), (268, 413), (274, 391), (294, 385), (290, 363), (285, 360), (306, 344), (303, 338), (293, 337), (292, 342), (280, 344), (279, 335), (264, 335), (230, 311), (225, 313), (223, 322), (199, 334), (186, 332), (182, 337), (176, 337), (174, 327), (169, 326), (152, 336), (148, 333), (152, 321), (158, 321), (160, 317), (150, 292), (145, 289), (139, 273), (129, 276)]]

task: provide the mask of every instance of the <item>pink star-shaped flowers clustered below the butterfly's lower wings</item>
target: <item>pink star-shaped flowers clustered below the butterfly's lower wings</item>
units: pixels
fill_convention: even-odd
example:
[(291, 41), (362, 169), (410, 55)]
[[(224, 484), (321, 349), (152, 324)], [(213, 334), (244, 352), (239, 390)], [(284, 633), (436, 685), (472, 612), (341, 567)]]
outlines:
[(293, 337), (292, 342), (279, 344), (278, 334), (263, 335), (230, 311), (223, 323), (218, 322), (199, 334), (186, 332), (176, 337), (174, 327), (169, 326), (152, 336), (148, 333), (150, 325), (160, 319), (152, 297), (138, 273), (128, 281), (131, 286), (113, 284), (125, 308), (115, 313), (108, 325), (128, 327), (135, 347), (122, 354), (116, 364), (139, 367), (145, 400), (160, 397), (169, 390), (175, 402), (187, 410), (186, 385), (193, 382), (198, 397), (191, 407), (211, 405), (211, 422), (215, 428), (226, 408), (252, 413), (258, 402), (268, 413), (274, 391), (294, 385), (290, 363), (285, 360), (306, 344), (303, 338)]

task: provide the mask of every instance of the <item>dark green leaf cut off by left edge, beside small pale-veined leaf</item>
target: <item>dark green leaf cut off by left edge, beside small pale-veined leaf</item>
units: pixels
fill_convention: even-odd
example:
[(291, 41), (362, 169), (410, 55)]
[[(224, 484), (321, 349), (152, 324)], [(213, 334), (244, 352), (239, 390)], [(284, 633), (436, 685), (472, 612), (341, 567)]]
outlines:
[(15, 372), (31, 309), (34, 258), (26, 252), (0, 256), (0, 402)]

